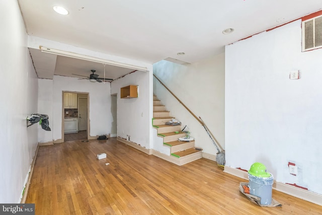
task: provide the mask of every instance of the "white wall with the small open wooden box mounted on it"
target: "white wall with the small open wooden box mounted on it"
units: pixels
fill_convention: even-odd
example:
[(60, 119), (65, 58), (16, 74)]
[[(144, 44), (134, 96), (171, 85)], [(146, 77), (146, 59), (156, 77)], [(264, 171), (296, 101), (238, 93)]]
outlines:
[[(152, 70), (152, 65), (149, 66)], [(138, 85), (138, 98), (121, 99), (120, 88)], [(152, 72), (135, 71), (111, 83), (111, 93), (117, 94), (117, 136), (151, 149), (152, 145)]]

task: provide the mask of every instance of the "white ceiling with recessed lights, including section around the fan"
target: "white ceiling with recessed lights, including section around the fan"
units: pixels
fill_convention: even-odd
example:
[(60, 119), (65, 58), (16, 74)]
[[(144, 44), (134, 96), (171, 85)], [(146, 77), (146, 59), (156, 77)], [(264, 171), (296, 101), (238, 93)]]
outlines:
[[(321, 0), (18, 0), (18, 3), (29, 35), (148, 63), (168, 57), (189, 63), (208, 58), (222, 53), (227, 44), (322, 9)], [(63, 6), (69, 14), (59, 15), (53, 6)], [(222, 34), (226, 28), (233, 28), (234, 32)], [(100, 77), (103, 75), (100, 63), (62, 56), (53, 59), (56, 55), (30, 50), (39, 78), (52, 78), (49, 70), (55, 75), (71, 76), (77, 72), (88, 76), (90, 69), (96, 69)], [(186, 54), (178, 56), (178, 52)], [(133, 71), (108, 67), (106, 78), (115, 79)]]

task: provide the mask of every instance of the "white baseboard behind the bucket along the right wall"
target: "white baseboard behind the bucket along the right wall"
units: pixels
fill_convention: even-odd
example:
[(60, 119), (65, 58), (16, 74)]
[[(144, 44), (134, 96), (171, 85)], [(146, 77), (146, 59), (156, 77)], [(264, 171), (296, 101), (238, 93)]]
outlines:
[[(224, 172), (248, 180), (248, 173), (246, 171), (225, 166)], [(273, 189), (297, 198), (304, 199), (314, 204), (322, 205), (322, 195), (310, 192), (308, 190), (304, 190), (289, 184), (284, 184), (275, 180), (273, 183)]]

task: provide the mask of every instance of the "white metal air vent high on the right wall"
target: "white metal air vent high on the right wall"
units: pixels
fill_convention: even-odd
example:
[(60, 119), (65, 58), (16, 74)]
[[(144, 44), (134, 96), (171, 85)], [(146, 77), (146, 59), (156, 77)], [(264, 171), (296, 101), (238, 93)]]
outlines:
[(302, 22), (302, 51), (322, 48), (322, 16)]

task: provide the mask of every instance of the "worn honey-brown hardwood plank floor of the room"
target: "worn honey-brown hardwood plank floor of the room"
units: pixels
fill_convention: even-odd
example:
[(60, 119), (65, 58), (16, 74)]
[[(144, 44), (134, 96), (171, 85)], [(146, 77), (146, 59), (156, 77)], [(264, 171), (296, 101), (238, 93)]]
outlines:
[[(107, 158), (97, 160), (96, 155)], [(110, 163), (109, 165), (105, 165)], [(116, 138), (39, 148), (26, 203), (36, 214), (321, 214), (322, 206), (273, 190), (281, 207), (260, 207), (246, 180), (199, 159), (177, 166)]]

